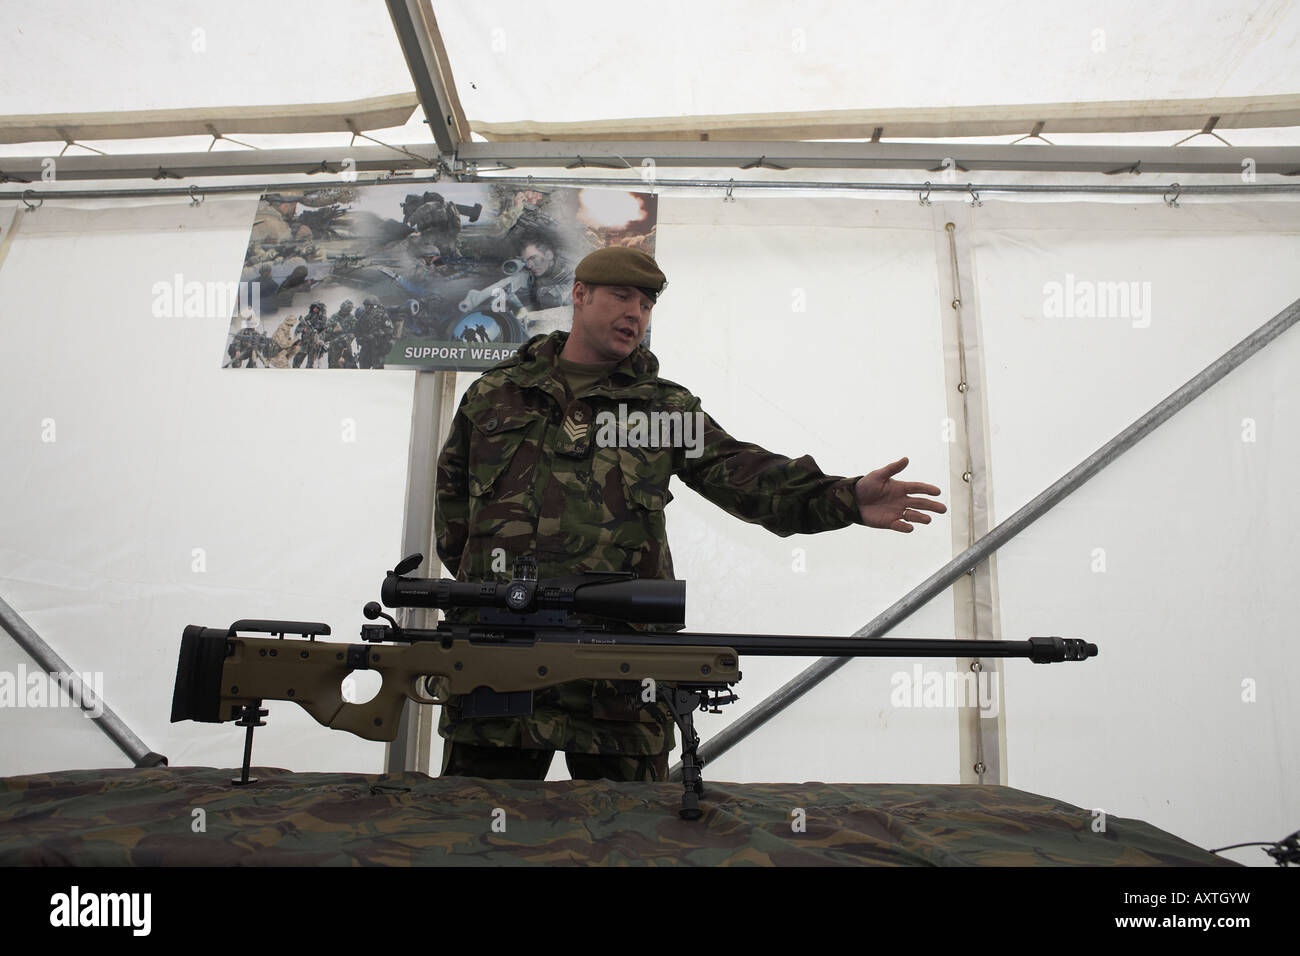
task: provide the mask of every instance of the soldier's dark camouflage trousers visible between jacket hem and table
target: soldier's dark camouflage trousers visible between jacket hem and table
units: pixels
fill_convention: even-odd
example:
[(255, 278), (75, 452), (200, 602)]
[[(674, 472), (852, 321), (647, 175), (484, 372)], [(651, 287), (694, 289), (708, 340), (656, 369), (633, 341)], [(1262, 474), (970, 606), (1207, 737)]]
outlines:
[[(516, 747), (473, 747), (442, 741), (442, 777), (482, 777), (489, 780), (545, 780), (555, 750)], [(569, 753), (564, 762), (575, 780), (668, 779), (668, 752), (653, 754)]]

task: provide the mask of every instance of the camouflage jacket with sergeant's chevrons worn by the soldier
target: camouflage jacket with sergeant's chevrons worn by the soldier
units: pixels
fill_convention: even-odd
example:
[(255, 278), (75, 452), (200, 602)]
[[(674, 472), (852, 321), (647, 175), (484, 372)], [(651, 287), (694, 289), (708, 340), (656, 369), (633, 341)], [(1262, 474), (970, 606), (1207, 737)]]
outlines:
[[(510, 580), (515, 558), (526, 554), (542, 580), (582, 571), (672, 578), (664, 507), (673, 475), (777, 535), (861, 523), (857, 479), (824, 475), (807, 455), (736, 441), (688, 389), (658, 377), (659, 362), (644, 346), (571, 397), (555, 371), (567, 338), (533, 337), (460, 402), (438, 458), (434, 510), (438, 557), (458, 580)], [(658, 434), (638, 431), (637, 411), (663, 416)], [(640, 689), (573, 682), (537, 692), (533, 715), (517, 718), (460, 719), (452, 698), (439, 732), (577, 753), (671, 749), (666, 705), (638, 706)]]

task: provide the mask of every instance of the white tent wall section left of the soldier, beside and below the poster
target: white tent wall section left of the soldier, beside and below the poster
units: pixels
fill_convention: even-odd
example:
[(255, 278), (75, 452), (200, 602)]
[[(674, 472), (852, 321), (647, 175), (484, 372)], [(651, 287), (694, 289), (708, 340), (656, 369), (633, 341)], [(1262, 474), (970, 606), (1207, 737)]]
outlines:
[[(231, 727), (168, 722), (181, 632), (351, 628), (400, 548), (413, 373), (221, 369), (229, 311), (155, 317), (153, 287), (237, 280), (256, 200), (107, 206), (20, 212), (0, 269), (0, 596), (147, 747), (229, 766)], [(299, 708), (272, 722), (261, 763), (382, 767)], [(0, 708), (0, 728), (3, 774), (130, 766), (77, 710)]]

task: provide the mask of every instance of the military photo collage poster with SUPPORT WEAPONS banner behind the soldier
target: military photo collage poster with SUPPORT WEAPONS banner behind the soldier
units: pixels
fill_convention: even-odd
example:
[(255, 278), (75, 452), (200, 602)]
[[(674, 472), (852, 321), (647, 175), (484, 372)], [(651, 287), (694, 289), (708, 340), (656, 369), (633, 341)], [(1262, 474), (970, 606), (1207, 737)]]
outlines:
[(656, 211), (649, 193), (514, 183), (266, 193), (222, 367), (489, 368), (571, 328), (588, 252), (654, 255)]

